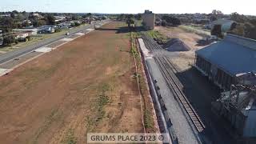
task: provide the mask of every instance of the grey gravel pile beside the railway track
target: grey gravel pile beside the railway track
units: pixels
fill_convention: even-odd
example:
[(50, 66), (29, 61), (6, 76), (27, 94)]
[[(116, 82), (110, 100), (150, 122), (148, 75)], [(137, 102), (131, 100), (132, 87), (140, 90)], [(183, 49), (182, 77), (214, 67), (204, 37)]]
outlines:
[(182, 40), (179, 38), (171, 38), (166, 44), (163, 46), (164, 49), (168, 51), (190, 51), (190, 47), (187, 46)]

